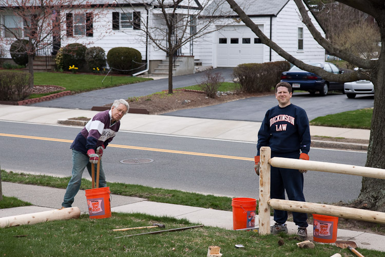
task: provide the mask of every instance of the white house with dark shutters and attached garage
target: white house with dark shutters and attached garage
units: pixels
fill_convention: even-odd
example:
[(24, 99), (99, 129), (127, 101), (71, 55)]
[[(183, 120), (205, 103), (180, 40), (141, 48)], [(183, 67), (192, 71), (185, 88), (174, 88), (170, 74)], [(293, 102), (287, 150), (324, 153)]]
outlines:
[[(17, 2), (17, 1), (15, 1)], [(143, 61), (153, 71), (167, 56), (153, 43), (167, 46), (165, 31), (167, 29), (162, 18), (162, 9), (157, 1), (118, 1), (102, 6), (105, 1), (92, 2), (85, 9), (60, 10), (63, 22), (61, 36), (48, 44), (49, 53), (55, 54), (57, 47), (69, 43), (82, 43), (87, 47), (100, 46), (106, 53), (113, 47), (132, 47), (139, 50)], [(204, 2), (204, 3), (203, 3)], [(299, 19), (299, 11), (293, 0), (237, 0), (236, 1), (264, 34), (288, 53), (302, 61), (323, 61), (324, 49), (313, 39), (309, 30)], [(89, 3), (89, 2), (87, 2)], [(218, 6), (220, 4), (220, 6)], [(261, 44), (258, 37), (246, 27), (238, 15), (230, 9), (224, 0), (185, 0), (178, 7), (180, 16), (191, 17), (186, 20), (183, 36), (199, 31), (209, 19), (215, 22), (205, 28), (213, 31), (194, 40), (187, 40), (178, 51), (179, 56), (187, 56), (203, 66), (236, 67), (241, 63), (263, 63), (283, 60), (282, 57)], [(203, 9), (203, 10), (202, 10)], [(171, 13), (174, 6), (166, 8)], [(318, 31), (324, 31), (310, 13)], [(195, 18), (195, 20), (194, 20)], [(25, 22), (15, 17), (13, 11), (4, 8), (0, 11), (2, 25), (18, 33), (25, 33)], [(184, 20), (179, 21), (183, 23)], [(227, 24), (227, 26), (224, 26)], [(150, 31), (151, 37), (146, 34)], [(177, 34), (176, 32), (175, 34)], [(12, 35), (3, 27), (1, 38), (12, 39)], [(10, 42), (10, 41), (8, 41)], [(55, 47), (53, 47), (55, 46)], [(3, 48), (9, 49), (9, 45)], [(6, 56), (10, 58), (9, 53)]]

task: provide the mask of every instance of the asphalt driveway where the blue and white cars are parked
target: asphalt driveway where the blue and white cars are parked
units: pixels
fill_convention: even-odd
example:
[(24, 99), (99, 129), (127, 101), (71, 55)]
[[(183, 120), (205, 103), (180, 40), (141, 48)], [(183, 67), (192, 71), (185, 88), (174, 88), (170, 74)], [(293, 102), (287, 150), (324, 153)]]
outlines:
[[(305, 109), (309, 120), (328, 114), (336, 114), (356, 109), (373, 107), (373, 96), (348, 99), (346, 95), (294, 93), (291, 102)], [(194, 109), (182, 109), (166, 113), (168, 116), (207, 118), (219, 120), (262, 121), (267, 109), (277, 105), (275, 95), (252, 97), (218, 105)]]

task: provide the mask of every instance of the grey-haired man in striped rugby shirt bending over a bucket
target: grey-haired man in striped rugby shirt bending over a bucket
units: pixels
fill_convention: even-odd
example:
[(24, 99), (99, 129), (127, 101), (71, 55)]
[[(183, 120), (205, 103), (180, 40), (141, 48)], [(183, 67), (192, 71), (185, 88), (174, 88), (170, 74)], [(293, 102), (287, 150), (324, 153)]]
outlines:
[[(119, 131), (120, 119), (128, 112), (128, 109), (129, 105), (124, 99), (115, 100), (110, 110), (93, 116), (76, 136), (70, 147), (72, 149), (72, 177), (64, 195), (62, 208), (71, 207), (74, 197), (80, 189), (84, 169), (87, 167), (91, 176), (92, 163), (98, 163), (103, 155), (103, 150)], [(99, 187), (106, 187), (102, 160), (100, 160)]]

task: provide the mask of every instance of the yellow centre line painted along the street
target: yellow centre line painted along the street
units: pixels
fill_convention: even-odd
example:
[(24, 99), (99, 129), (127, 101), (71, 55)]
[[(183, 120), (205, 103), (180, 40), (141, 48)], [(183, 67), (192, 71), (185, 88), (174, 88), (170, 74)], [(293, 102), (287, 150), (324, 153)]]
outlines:
[[(59, 139), (59, 138), (34, 137), (34, 136), (4, 134), (4, 133), (0, 133), (0, 136), (35, 139), (35, 140), (45, 140), (45, 141), (55, 141), (55, 142), (64, 142), (64, 143), (72, 143), (72, 141), (73, 141), (73, 140)], [(235, 159), (235, 160), (248, 160), (248, 161), (254, 160), (254, 158), (246, 158), (246, 157), (231, 156), (231, 155), (205, 154), (205, 153), (197, 153), (197, 152), (167, 150), (167, 149), (159, 149), (159, 148), (147, 148), (147, 147), (142, 147), (142, 146), (132, 146), (132, 145), (122, 145), (122, 144), (108, 144), (108, 146), (115, 147), (115, 148), (152, 151), (152, 152), (163, 152), (163, 153), (172, 153), (172, 154), (197, 155), (197, 156), (216, 157), (216, 158)]]

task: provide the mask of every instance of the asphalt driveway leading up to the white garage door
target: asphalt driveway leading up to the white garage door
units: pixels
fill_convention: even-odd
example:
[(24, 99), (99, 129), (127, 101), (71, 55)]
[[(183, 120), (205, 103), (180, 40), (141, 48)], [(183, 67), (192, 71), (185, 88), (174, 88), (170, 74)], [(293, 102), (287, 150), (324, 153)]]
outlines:
[[(232, 68), (219, 68), (214, 72), (220, 72), (225, 81), (232, 81)], [(176, 76), (172, 78), (173, 88), (197, 85), (202, 81), (204, 73)], [(115, 99), (139, 97), (168, 90), (168, 78), (146, 81), (141, 83), (93, 90), (71, 96), (57, 98), (51, 101), (31, 104), (32, 106), (91, 109), (92, 106), (102, 106), (112, 103)]]

